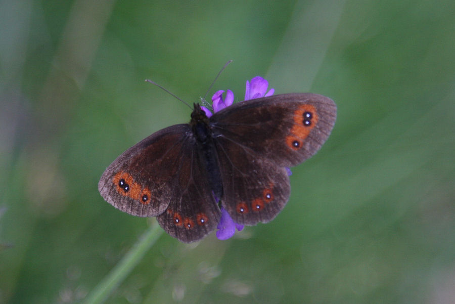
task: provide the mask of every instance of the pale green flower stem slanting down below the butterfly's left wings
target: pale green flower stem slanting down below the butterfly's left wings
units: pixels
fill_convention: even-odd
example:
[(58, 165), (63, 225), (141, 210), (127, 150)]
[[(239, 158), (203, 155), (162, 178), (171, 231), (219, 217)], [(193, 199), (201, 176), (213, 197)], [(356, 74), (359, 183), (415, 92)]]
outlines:
[(155, 222), (139, 238), (133, 247), (123, 256), (112, 271), (88, 293), (84, 304), (103, 303), (106, 298), (120, 285), (127, 275), (138, 265), (144, 254), (152, 247), (163, 230)]

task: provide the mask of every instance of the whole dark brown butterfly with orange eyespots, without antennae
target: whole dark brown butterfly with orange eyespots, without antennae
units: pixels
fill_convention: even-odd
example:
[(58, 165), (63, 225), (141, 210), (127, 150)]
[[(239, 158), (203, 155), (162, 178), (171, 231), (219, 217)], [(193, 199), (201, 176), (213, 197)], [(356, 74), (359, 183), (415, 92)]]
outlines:
[(164, 128), (114, 160), (98, 189), (121, 211), (156, 216), (183, 242), (214, 230), (220, 206), (235, 223), (267, 223), (288, 202), (287, 168), (321, 148), (335, 118), (331, 99), (309, 93), (247, 100), (210, 118), (195, 104), (189, 124)]

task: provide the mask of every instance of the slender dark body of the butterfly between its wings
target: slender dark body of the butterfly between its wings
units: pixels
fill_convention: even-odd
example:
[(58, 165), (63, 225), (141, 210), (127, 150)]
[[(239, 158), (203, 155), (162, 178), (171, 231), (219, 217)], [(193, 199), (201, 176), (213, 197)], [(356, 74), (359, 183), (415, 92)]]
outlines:
[(209, 119), (199, 104), (194, 105), (191, 113), (190, 126), (196, 139), (196, 145), (200, 156), (200, 162), (207, 171), (210, 187), (217, 199), (223, 193), (221, 172), (219, 169), (218, 155), (213, 139)]

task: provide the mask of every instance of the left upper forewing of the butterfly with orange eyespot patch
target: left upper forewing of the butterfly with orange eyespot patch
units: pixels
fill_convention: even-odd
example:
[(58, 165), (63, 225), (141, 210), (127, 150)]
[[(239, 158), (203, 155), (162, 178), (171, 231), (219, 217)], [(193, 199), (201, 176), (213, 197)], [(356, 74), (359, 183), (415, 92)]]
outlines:
[(152, 134), (114, 160), (98, 189), (117, 209), (136, 216), (157, 216), (166, 210), (184, 147), (191, 145), (191, 129), (178, 124)]

